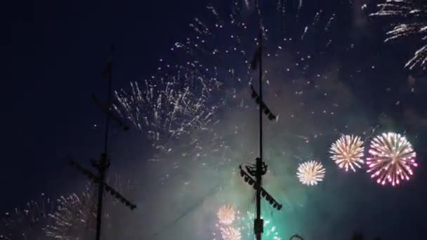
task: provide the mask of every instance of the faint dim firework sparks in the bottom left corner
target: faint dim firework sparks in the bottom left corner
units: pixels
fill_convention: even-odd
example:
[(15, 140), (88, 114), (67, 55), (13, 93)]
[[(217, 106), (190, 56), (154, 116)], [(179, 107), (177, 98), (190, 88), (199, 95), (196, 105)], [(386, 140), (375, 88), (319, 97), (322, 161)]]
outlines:
[(15, 208), (1, 218), (2, 240), (45, 240), (44, 228), (51, 221), (55, 203), (44, 194), (39, 201), (30, 201), (25, 208)]

